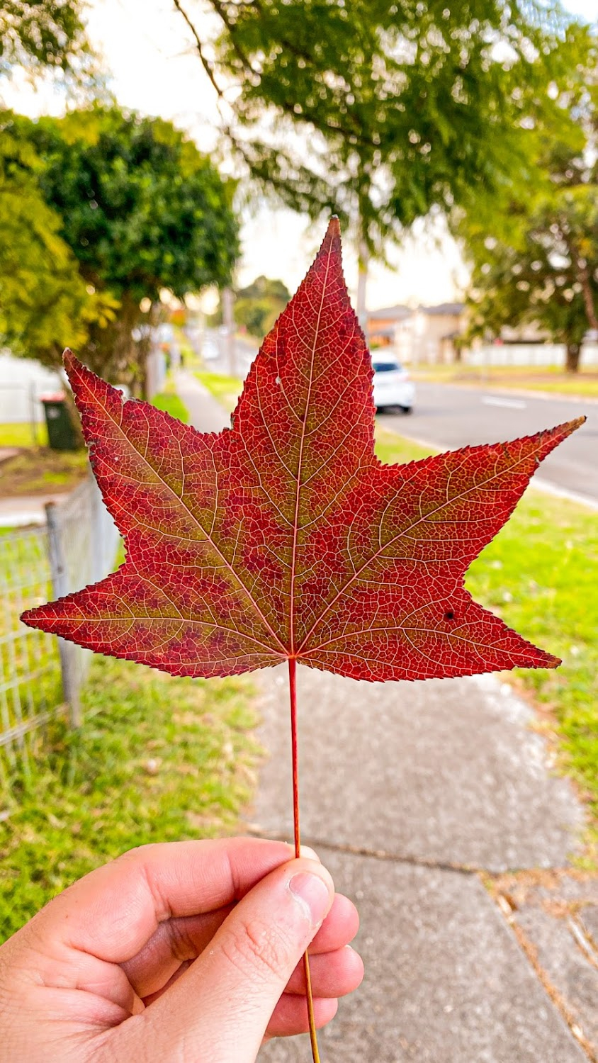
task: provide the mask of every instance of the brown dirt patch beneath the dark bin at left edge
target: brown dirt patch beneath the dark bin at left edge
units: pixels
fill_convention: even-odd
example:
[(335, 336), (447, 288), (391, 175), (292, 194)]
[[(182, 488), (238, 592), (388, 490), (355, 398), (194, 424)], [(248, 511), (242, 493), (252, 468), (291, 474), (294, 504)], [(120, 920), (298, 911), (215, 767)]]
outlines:
[(0, 465), (0, 499), (71, 491), (88, 469), (85, 451), (20, 450)]

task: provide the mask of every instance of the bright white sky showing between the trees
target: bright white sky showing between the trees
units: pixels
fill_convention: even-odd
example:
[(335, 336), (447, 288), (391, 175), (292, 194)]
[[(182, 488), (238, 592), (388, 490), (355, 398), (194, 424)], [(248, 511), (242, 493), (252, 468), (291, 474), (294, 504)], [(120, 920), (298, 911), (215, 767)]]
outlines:
[[(598, 0), (567, 0), (564, 6), (588, 20), (598, 14)], [(168, 118), (186, 130), (200, 150), (215, 151), (215, 92), (172, 0), (89, 0), (88, 32), (110, 72), (109, 88), (122, 106)], [(34, 88), (23, 72), (17, 72), (3, 99), (7, 106), (31, 117), (64, 111), (64, 99), (55, 89), (42, 83)], [(255, 200), (251, 213), (243, 212), (239, 285), (264, 273), (280, 277), (293, 291), (322, 236), (322, 225), (313, 226), (291, 210)], [(417, 223), (400, 249), (389, 249), (389, 258), (393, 269), (377, 263), (371, 266), (368, 305), (372, 309), (451, 301), (466, 284), (459, 249), (441, 218)], [(357, 260), (351, 246), (345, 246), (344, 266), (348, 287), (355, 292)]]

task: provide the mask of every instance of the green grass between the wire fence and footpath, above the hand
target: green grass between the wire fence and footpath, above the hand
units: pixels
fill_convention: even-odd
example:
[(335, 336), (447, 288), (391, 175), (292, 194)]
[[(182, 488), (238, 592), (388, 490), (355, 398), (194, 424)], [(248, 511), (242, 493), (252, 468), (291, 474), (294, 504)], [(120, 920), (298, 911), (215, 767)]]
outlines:
[(8, 937), (69, 882), (135, 845), (235, 829), (259, 749), (246, 678), (180, 679), (95, 658), (79, 732), (56, 724), (0, 823)]

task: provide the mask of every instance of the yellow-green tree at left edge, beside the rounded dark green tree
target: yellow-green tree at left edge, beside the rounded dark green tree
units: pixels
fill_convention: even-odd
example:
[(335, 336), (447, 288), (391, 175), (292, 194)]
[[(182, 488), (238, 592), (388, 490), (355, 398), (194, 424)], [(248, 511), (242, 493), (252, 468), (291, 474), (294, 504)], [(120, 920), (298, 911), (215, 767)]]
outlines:
[(19, 122), (0, 122), (0, 343), (14, 354), (59, 365), (92, 322), (106, 323), (109, 301), (89, 291), (59, 235), (61, 219), (41, 198), (40, 161)]

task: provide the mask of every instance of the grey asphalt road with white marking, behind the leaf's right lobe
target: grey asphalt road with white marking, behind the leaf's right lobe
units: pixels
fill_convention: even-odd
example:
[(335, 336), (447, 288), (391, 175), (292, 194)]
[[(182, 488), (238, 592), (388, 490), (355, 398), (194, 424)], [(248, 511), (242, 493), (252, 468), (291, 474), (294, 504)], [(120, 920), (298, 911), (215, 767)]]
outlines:
[(582, 415), (586, 423), (542, 462), (537, 479), (598, 503), (598, 403), (420, 383), (412, 415), (389, 411), (379, 420), (405, 436), (455, 450), (516, 439)]

